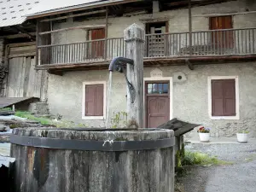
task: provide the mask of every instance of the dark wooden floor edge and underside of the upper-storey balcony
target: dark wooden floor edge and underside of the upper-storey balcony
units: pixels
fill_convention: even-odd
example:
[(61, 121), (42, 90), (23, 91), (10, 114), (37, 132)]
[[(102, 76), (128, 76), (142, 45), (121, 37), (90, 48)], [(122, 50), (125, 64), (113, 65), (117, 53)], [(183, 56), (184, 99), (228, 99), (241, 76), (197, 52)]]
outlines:
[[(111, 60), (90, 61), (72, 64), (47, 64), (36, 67), (38, 70), (48, 70), (49, 73), (62, 75), (71, 71), (89, 71), (108, 69)], [(225, 64), (256, 61), (256, 55), (220, 55), (220, 56), (188, 56), (188, 57), (155, 57), (145, 58), (144, 67), (188, 66), (193, 70), (195, 65)]]

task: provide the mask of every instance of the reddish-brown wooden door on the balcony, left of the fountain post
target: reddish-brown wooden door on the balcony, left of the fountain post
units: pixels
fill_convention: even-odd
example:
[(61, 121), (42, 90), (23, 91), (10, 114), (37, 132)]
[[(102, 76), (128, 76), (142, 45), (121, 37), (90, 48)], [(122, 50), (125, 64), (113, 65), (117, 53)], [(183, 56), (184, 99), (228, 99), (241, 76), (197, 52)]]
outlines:
[(95, 41), (97, 39), (104, 39), (105, 38), (105, 29), (94, 29), (91, 30), (91, 57), (103, 57), (104, 55), (104, 40), (102, 41)]

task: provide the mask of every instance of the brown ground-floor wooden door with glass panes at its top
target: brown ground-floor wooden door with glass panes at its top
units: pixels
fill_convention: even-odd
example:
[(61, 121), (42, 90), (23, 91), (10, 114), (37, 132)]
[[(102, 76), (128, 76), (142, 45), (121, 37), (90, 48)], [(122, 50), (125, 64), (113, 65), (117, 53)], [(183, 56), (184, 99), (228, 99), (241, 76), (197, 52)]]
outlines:
[(146, 124), (156, 128), (170, 120), (169, 82), (146, 82)]

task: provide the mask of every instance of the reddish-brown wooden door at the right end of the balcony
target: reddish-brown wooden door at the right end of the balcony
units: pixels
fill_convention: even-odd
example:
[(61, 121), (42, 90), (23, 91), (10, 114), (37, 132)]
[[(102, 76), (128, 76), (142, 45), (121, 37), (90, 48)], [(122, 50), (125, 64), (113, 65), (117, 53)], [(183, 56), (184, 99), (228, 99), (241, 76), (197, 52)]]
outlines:
[[(210, 18), (210, 30), (232, 28), (232, 16), (220, 16)], [(233, 31), (212, 32), (212, 44), (220, 48), (233, 48)]]

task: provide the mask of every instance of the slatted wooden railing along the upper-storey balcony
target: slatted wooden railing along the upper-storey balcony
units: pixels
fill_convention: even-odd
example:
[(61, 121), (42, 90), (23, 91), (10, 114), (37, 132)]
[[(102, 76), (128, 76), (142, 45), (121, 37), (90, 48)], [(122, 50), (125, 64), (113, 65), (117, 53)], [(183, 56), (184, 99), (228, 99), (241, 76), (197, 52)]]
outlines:
[[(144, 58), (256, 54), (256, 28), (148, 34)], [(190, 43), (189, 43), (190, 42)], [(108, 61), (125, 56), (124, 38), (38, 46), (40, 64)]]

